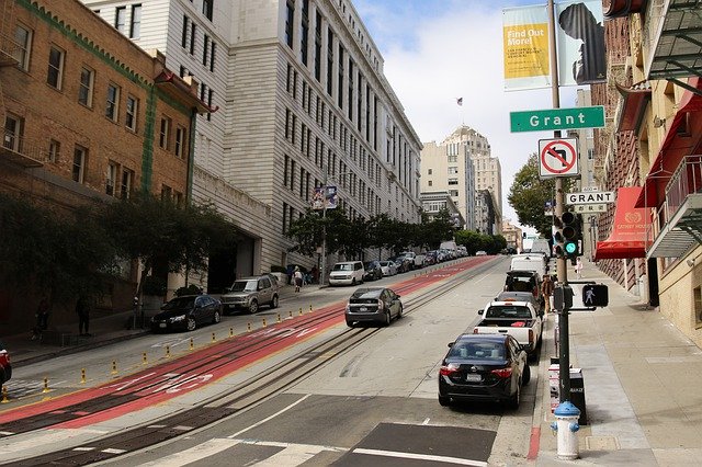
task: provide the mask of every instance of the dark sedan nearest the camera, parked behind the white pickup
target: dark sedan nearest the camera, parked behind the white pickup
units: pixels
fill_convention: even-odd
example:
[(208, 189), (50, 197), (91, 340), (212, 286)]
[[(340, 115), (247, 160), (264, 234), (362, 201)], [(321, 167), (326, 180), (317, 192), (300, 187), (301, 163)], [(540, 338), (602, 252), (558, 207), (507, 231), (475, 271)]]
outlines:
[(449, 344), (439, 369), (439, 403), (509, 402), (517, 409), (531, 379), (526, 352), (509, 334), (462, 334)]

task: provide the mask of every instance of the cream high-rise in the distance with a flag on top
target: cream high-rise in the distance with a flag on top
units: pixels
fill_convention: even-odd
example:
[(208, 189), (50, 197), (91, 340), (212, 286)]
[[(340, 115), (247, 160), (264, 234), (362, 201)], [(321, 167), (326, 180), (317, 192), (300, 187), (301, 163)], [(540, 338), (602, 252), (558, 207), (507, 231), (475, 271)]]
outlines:
[(499, 159), (491, 157), (486, 137), (462, 125), (440, 145), (426, 143), (421, 162), (422, 192), (449, 191), (466, 219), (466, 229), (499, 234), (501, 168)]

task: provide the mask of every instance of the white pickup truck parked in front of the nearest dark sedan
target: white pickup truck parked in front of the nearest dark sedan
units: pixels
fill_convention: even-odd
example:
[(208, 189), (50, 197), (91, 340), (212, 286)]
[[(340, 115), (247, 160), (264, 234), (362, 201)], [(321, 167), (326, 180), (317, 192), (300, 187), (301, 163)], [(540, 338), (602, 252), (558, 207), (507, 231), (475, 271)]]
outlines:
[(483, 320), (473, 328), (474, 334), (510, 334), (530, 356), (536, 356), (543, 315), (531, 303), (490, 301), (478, 315), (483, 315)]

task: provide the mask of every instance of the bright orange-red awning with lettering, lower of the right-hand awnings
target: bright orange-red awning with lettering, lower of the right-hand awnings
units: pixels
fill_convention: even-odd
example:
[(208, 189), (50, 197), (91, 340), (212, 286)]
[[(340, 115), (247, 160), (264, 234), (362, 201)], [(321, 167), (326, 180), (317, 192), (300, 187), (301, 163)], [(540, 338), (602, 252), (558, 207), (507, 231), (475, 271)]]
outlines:
[(595, 261), (646, 257), (646, 209), (634, 207), (641, 186), (616, 189), (612, 234), (595, 248)]

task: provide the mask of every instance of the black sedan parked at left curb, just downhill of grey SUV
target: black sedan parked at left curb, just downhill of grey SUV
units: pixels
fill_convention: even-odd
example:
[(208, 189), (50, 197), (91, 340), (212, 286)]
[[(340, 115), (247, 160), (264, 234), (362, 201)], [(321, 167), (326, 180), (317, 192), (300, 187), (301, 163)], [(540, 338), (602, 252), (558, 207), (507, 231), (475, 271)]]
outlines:
[(210, 295), (176, 297), (151, 318), (151, 331), (193, 331), (200, 324), (222, 320), (222, 301)]

